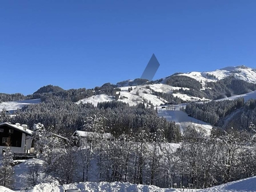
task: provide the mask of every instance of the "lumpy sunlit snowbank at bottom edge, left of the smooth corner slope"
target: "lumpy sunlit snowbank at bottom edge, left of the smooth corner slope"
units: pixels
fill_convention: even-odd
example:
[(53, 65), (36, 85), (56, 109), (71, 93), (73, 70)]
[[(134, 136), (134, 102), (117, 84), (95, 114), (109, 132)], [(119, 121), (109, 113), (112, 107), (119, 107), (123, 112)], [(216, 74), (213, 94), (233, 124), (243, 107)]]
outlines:
[(129, 182), (81, 182), (74, 184), (65, 184), (64, 186), (56, 186), (54, 184), (39, 184), (35, 188), (29, 190), (29, 192), (40, 192), (40, 191), (54, 191), (64, 192), (65, 189), (81, 189), (85, 192), (170, 192), (178, 189), (163, 189), (156, 186), (147, 186), (142, 184), (131, 184)]

